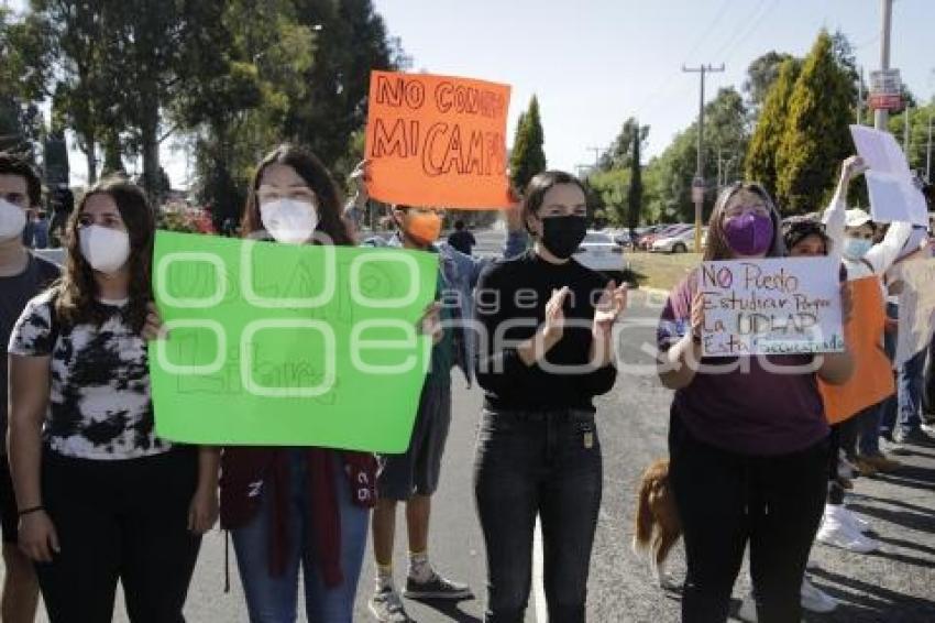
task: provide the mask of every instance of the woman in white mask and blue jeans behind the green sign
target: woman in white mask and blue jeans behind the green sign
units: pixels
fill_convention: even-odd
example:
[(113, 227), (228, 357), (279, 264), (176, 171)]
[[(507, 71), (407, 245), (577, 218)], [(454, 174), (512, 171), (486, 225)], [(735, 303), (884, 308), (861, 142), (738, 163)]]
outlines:
[[(289, 145), (260, 163), (242, 222), (252, 239), (353, 244), (328, 171)], [(373, 456), (227, 447), (221, 464), (221, 525), (231, 531), (251, 622), (296, 620), (301, 568), (308, 620), (350, 623), (376, 501)]]

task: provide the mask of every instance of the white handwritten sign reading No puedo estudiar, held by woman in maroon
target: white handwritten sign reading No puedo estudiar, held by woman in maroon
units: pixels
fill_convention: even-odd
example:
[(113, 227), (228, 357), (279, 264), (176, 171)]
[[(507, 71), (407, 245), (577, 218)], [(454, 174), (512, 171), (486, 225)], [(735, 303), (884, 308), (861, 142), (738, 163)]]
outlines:
[(839, 263), (832, 258), (704, 262), (704, 357), (840, 352)]

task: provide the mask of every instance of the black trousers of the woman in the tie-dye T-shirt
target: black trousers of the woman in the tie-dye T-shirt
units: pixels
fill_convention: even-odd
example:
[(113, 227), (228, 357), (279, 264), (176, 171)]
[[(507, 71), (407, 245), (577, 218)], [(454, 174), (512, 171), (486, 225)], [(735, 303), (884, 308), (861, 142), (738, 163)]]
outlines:
[(194, 448), (98, 461), (46, 450), (43, 502), (62, 551), (36, 572), (53, 623), (106, 623), (118, 579), (133, 623), (182, 623), (201, 537), (188, 532)]

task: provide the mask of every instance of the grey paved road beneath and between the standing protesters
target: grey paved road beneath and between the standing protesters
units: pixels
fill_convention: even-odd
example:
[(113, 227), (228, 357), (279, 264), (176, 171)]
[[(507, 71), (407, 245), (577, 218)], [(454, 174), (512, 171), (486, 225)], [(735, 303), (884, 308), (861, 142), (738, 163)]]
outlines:
[[(492, 240), (494, 240), (492, 238)], [(496, 242), (493, 243), (496, 247)], [(495, 251), (495, 249), (494, 249)], [(588, 620), (601, 623), (679, 620), (675, 593), (656, 588), (648, 565), (629, 550), (632, 534), (634, 491), (644, 467), (666, 455), (670, 393), (651, 373), (650, 358), (641, 346), (651, 342), (658, 302), (637, 295), (628, 313), (622, 341), (625, 371), (614, 390), (598, 401), (601, 440), (604, 449), (604, 503), (592, 559)], [(646, 372), (645, 370), (644, 372)], [(454, 413), (441, 489), (436, 500), (431, 555), (454, 579), (470, 582), (481, 599), (453, 609), (436, 609), (409, 602), (410, 614), (420, 623), (475, 622), (482, 616), (484, 581), (483, 542), (475, 520), (471, 492), (474, 428), (481, 395), (454, 383)], [(906, 458), (897, 474), (857, 481), (851, 509), (873, 525), (884, 551), (859, 556), (816, 546), (812, 578), (816, 586), (842, 600), (832, 615), (807, 616), (810, 622), (909, 623), (935, 621), (935, 449)], [(397, 576), (405, 572), (405, 544), (400, 516), (397, 544)], [(361, 576), (355, 621), (372, 621), (366, 599), (373, 581), (372, 555)], [(233, 590), (222, 593), (224, 550), (219, 534), (210, 535), (202, 549), (187, 606), (189, 621), (234, 623), (246, 621), (243, 595), (231, 565)], [(681, 549), (674, 554), (672, 571), (684, 570)], [(735, 587), (734, 611), (749, 590), (746, 569)], [(402, 577), (399, 577), (402, 580)], [(122, 605), (116, 620), (125, 621)], [(305, 617), (300, 616), (304, 621)], [(535, 609), (527, 621), (537, 621)], [(539, 623), (542, 623), (539, 621)]]

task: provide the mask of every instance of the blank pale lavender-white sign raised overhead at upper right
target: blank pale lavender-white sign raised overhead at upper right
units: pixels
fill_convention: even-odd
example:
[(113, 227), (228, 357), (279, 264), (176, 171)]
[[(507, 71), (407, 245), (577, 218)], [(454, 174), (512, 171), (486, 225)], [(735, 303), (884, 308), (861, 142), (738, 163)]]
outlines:
[(915, 187), (909, 161), (893, 135), (864, 125), (851, 125), (850, 135), (870, 167), (865, 177), (873, 220), (928, 225), (925, 197)]

